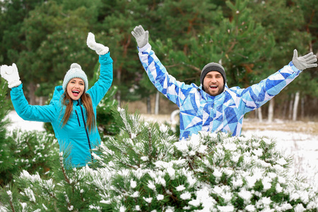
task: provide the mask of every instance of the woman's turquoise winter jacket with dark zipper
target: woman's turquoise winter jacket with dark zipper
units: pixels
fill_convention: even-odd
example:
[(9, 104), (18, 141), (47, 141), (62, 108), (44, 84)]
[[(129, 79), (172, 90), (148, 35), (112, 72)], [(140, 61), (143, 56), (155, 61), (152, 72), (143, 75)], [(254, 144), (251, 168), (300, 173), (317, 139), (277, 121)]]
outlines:
[[(112, 85), (113, 69), (110, 52), (100, 55), (100, 78), (87, 90), (93, 102), (96, 117), (96, 107)], [(51, 122), (55, 136), (59, 142), (59, 151), (68, 155), (72, 167), (83, 167), (93, 159), (91, 150), (100, 144), (97, 126), (92, 131), (86, 129), (86, 108), (81, 99), (73, 101), (73, 112), (69, 121), (62, 127), (65, 105), (61, 104), (64, 90), (62, 86), (55, 87), (49, 105), (29, 105), (23, 94), (22, 84), (11, 90), (11, 100), (18, 115), (28, 121)]]

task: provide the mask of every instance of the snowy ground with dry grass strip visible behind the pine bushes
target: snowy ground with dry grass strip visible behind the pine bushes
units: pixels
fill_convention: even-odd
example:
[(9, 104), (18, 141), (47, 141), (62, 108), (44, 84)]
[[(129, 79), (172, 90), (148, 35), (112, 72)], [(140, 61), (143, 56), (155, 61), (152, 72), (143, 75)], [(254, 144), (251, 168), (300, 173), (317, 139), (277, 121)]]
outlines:
[[(8, 117), (12, 122), (12, 124), (8, 126), (9, 131), (12, 129), (45, 131), (42, 122), (24, 121), (18, 116), (18, 114), (16, 114), (15, 111), (10, 112)], [(155, 120), (158, 122), (170, 122), (169, 115), (151, 117), (148, 114), (141, 114), (141, 117), (143, 119)], [(285, 122), (283, 121), (278, 123), (276, 122), (278, 126), (283, 126), (284, 123)], [(305, 124), (297, 123), (298, 129), (301, 125)], [(289, 131), (288, 129), (283, 129), (282, 131), (276, 130), (281, 129), (281, 127), (273, 126), (273, 124), (266, 125), (265, 123), (253, 123), (249, 122), (247, 119), (245, 120), (245, 124), (243, 124), (242, 136), (267, 136), (275, 139), (277, 142), (276, 148), (279, 151), (283, 151), (286, 155), (293, 157), (294, 165), (292, 167), (292, 171), (295, 174), (300, 173), (301, 176), (307, 177), (310, 182), (318, 184), (318, 134), (314, 131), (314, 127), (317, 127), (317, 123), (305, 125), (307, 131), (298, 131), (293, 129), (289, 129)], [(310, 130), (308, 131), (310, 128), (314, 129), (314, 133)]]

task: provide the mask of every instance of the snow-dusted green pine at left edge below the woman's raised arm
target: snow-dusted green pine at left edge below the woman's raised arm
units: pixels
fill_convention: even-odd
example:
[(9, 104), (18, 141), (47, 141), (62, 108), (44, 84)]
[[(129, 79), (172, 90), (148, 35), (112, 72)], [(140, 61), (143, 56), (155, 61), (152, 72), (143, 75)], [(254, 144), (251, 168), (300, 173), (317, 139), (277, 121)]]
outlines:
[(59, 148), (52, 134), (6, 129), (11, 122), (6, 115), (12, 104), (6, 95), (6, 81), (0, 83), (0, 186), (5, 186), (20, 170), (38, 172), (42, 176), (48, 174)]

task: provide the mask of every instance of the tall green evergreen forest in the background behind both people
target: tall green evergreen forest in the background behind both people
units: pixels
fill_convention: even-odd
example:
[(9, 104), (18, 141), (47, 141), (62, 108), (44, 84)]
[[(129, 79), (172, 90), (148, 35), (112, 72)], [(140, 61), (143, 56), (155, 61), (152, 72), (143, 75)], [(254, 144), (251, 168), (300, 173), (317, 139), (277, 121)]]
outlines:
[[(31, 105), (61, 84), (73, 62), (93, 78), (98, 57), (85, 45), (88, 32), (110, 47), (119, 104), (146, 102), (156, 92), (131, 35), (136, 25), (149, 31), (172, 76), (197, 85), (211, 61), (223, 64), (229, 87), (247, 88), (288, 64), (293, 49), (318, 52), (313, 0), (3, 0), (0, 6), (0, 64), (17, 64)], [(317, 117), (317, 73), (304, 71), (275, 98), (276, 117), (290, 118), (295, 100), (298, 117)]]

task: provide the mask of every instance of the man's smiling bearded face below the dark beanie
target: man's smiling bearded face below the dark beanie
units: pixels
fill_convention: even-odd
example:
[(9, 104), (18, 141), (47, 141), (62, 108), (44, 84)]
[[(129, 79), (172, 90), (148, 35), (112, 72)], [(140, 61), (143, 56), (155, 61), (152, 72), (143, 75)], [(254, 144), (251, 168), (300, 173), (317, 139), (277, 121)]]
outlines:
[(210, 71), (206, 73), (203, 83), (204, 91), (209, 95), (219, 95), (224, 87), (223, 76), (218, 71)]

